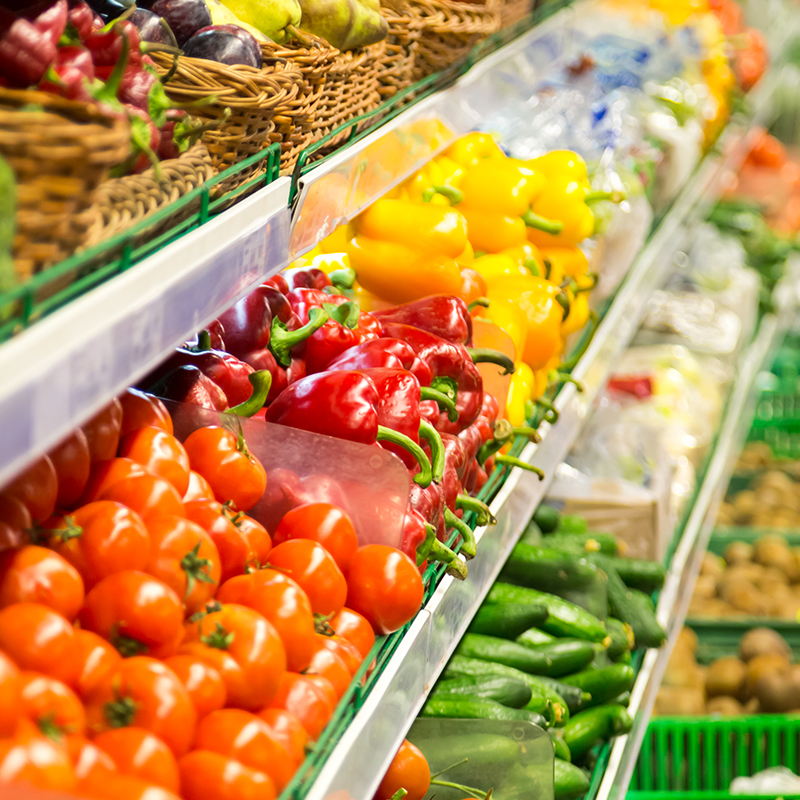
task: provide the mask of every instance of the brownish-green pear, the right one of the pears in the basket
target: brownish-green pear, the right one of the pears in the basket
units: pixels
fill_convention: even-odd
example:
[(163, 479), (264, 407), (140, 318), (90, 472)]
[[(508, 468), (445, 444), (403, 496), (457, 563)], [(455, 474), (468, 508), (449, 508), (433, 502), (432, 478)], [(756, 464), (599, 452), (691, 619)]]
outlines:
[(379, 0), (300, 0), (302, 28), (337, 50), (354, 50), (386, 38)]

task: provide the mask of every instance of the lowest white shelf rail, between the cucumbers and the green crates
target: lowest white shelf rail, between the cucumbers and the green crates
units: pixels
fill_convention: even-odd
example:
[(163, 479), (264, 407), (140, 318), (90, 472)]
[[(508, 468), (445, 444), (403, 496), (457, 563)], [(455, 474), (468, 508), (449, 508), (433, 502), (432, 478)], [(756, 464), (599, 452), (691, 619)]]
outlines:
[(622, 800), (627, 792), (661, 678), (686, 618), (717, 510), (755, 412), (760, 391), (756, 377), (762, 368), (768, 368), (772, 363), (774, 353), (791, 327), (797, 311), (795, 286), (788, 283), (779, 286), (776, 296), (778, 313), (763, 319), (754, 342), (740, 362), (714, 453), (658, 600), (656, 615), (667, 632), (667, 642), (660, 649), (649, 650), (645, 655), (631, 691), (633, 729), (627, 736), (614, 742), (596, 800)]

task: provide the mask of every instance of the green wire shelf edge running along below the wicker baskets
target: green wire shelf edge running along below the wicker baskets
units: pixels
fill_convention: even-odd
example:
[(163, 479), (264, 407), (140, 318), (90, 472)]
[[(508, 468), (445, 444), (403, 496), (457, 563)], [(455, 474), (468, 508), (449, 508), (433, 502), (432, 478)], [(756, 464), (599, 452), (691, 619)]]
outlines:
[[(541, 8), (533, 11), (516, 25), (489, 36), (486, 40), (476, 45), (468, 56), (447, 69), (430, 75), (407, 89), (398, 92), (373, 111), (354, 118), (328, 136), (309, 145), (300, 153), (292, 176), (290, 205), (297, 195), (300, 177), (332, 155), (328, 154), (324, 158), (313, 160), (314, 155), (325, 147), (334, 136), (339, 136), (349, 131), (349, 135), (342, 145), (342, 147), (346, 147), (373, 133), (411, 105), (418, 103), (436, 91), (452, 85), (475, 63), (526, 33), (572, 2), (573, 0), (551, 0), (545, 3)], [(359, 131), (360, 127), (362, 129)], [(338, 153), (339, 149), (334, 152)], [(267, 161), (264, 174), (248, 181), (237, 189), (211, 200), (210, 192), (215, 186), (251, 168), (264, 159)], [(233, 167), (229, 167), (202, 186), (193, 189), (184, 197), (175, 200), (123, 233), (101, 242), (89, 250), (76, 253), (54, 267), (35, 275), (24, 284), (15, 286), (5, 293), (0, 293), (0, 343), (66, 305), (71, 300), (125, 272), (160, 248), (204, 225), (215, 213), (227, 209), (244, 196), (272, 183), (278, 178), (279, 174), (280, 145), (272, 144), (262, 152), (248, 157)], [(180, 214), (180, 212), (191, 207), (191, 204), (196, 203), (198, 200), (200, 205), (198, 212), (187, 215), (186, 218), (173, 225), (168, 224), (170, 217)], [(164, 225), (167, 227), (162, 232), (152, 239), (147, 239), (146, 233), (149, 229)], [(69, 281), (70, 276), (73, 274), (77, 277), (70, 285), (64, 288), (57, 288)], [(48, 291), (48, 287), (56, 288)], [(49, 296), (41, 299), (41, 295), (44, 293)]]

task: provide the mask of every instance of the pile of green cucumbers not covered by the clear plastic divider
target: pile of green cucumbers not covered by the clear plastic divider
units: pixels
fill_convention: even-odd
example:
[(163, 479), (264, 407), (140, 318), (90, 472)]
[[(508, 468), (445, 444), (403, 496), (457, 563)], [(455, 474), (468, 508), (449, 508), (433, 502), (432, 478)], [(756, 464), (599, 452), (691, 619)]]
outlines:
[(630, 730), (631, 651), (666, 638), (650, 597), (663, 567), (618, 550), (540, 506), (422, 710), (546, 728), (556, 800), (585, 794), (596, 745)]

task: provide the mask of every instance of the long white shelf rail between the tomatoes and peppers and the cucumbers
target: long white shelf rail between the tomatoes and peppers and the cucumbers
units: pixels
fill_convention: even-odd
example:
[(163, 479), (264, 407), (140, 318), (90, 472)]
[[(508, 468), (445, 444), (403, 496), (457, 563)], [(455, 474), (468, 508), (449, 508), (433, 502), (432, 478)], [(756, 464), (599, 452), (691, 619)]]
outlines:
[[(554, 17), (553, 20), (556, 18)], [(751, 98), (755, 121), (769, 113), (775, 83), (765, 83)], [(538, 481), (514, 470), (492, 502), (497, 525), (476, 532), (478, 555), (469, 562), (469, 578), (445, 576), (403, 637), (363, 706), (330, 753), (306, 800), (324, 800), (345, 792), (352, 800), (372, 797), (402, 737), (476, 613), (535, 508), (544, 498), (556, 467), (576, 441), (592, 404), (635, 334), (647, 298), (659, 288), (684, 241), (684, 223), (699, 219), (715, 202), (722, 179), (737, 169), (749, 151), (750, 122), (732, 126), (720, 142), (722, 155), (707, 157), (639, 254), (599, 326), (586, 354), (573, 371), (583, 383), (569, 384), (555, 406), (558, 424), (540, 427), (542, 442), (529, 444), (522, 459), (543, 469)], [(760, 363), (760, 362), (759, 362)], [(371, 768), (365, 770), (364, 764)], [(345, 795), (342, 795), (345, 796)]]

